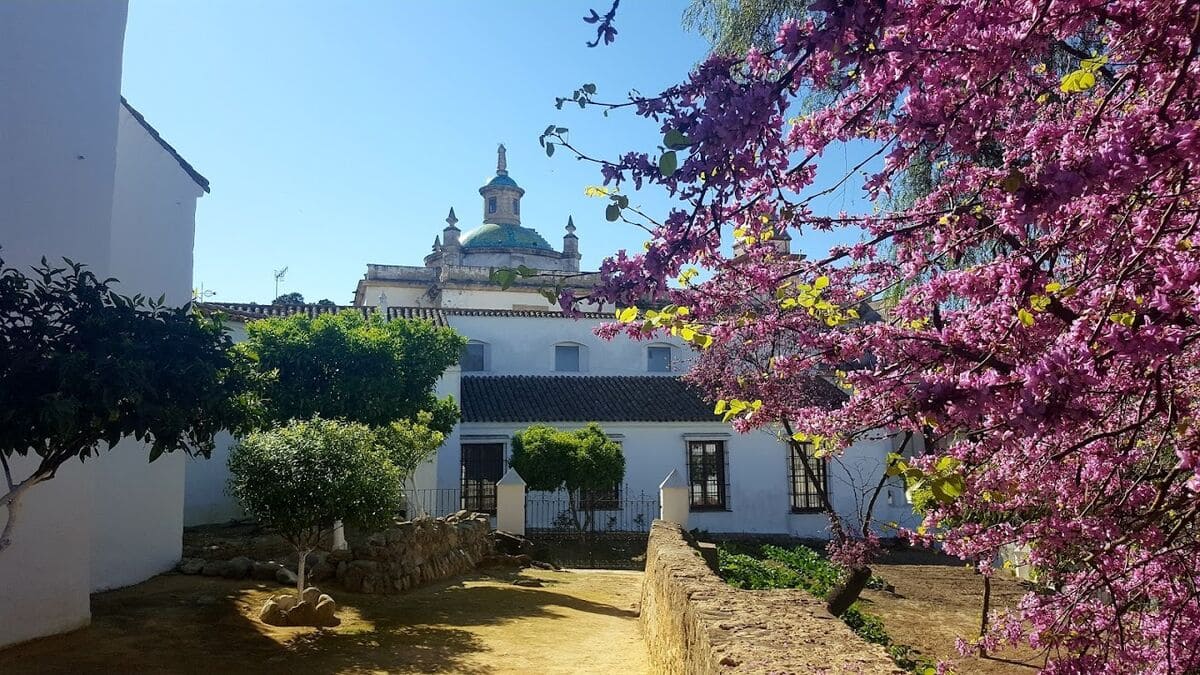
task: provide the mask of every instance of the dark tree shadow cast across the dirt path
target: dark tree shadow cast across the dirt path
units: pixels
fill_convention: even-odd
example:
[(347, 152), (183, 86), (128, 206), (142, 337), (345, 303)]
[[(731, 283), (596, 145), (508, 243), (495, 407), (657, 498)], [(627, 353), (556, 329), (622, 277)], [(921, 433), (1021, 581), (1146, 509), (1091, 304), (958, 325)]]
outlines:
[[(569, 574), (569, 573), (562, 573)], [(466, 673), (493, 671), (491, 645), (473, 627), (569, 619), (569, 610), (631, 620), (634, 609), (474, 574), (398, 596), (330, 586), (342, 625), (280, 628), (257, 620), (274, 584), (168, 574), (92, 596), (92, 625), (0, 650), (0, 673)], [(498, 664), (503, 665), (503, 664)]]

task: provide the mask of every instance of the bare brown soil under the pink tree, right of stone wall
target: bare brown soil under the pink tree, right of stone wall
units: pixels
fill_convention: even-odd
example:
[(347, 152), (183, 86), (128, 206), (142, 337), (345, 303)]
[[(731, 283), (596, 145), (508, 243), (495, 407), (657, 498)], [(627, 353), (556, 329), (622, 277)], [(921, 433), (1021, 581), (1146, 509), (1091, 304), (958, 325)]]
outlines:
[[(863, 609), (883, 617), (894, 641), (952, 663), (959, 675), (1032, 674), (1042, 664), (1030, 650), (983, 658), (959, 656), (955, 639), (979, 634), (983, 577), (958, 558), (922, 550), (894, 551), (871, 568), (895, 586), (895, 593), (863, 591)], [(1025, 589), (1012, 577), (992, 577), (994, 610), (1015, 607), (1024, 595)]]

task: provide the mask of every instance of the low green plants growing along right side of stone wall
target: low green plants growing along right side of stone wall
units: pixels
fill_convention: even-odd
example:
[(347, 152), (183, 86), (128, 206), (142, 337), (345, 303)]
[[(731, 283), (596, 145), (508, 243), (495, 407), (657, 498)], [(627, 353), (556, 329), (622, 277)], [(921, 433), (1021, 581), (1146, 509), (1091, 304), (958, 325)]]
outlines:
[[(803, 545), (785, 549), (772, 544), (730, 542), (719, 546), (718, 555), (725, 581), (731, 586), (754, 591), (804, 589), (823, 598), (846, 573), (841, 566), (829, 562), (817, 551)], [(880, 590), (886, 586), (887, 583), (880, 577), (871, 577), (866, 583), (869, 589)], [(850, 605), (850, 609), (841, 615), (841, 620), (858, 637), (886, 649), (888, 656), (900, 668), (922, 675), (936, 673), (932, 661), (918, 655), (908, 645), (894, 643), (883, 628), (883, 620), (878, 615), (863, 611), (859, 603)]]

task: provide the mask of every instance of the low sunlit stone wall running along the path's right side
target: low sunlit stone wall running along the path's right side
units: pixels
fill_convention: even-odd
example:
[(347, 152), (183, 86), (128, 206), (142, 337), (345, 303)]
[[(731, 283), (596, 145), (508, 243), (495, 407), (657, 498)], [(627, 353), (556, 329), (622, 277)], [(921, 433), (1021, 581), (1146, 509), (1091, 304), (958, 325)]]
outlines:
[(727, 585), (673, 522), (650, 528), (641, 620), (655, 673), (902, 673), (809, 593)]

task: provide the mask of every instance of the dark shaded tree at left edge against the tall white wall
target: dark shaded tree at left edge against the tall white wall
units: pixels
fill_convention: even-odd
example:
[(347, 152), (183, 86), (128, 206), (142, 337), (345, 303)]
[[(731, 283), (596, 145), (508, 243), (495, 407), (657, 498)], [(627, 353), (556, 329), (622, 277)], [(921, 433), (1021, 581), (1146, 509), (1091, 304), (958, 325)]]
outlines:
[[(252, 420), (252, 372), (220, 321), (163, 298), (126, 298), (84, 265), (46, 259), (25, 276), (0, 259), (0, 551), (20, 501), (68, 460), (150, 443), (150, 461), (182, 449), (208, 456), (212, 437)], [(13, 455), (40, 458), (24, 478)]]

